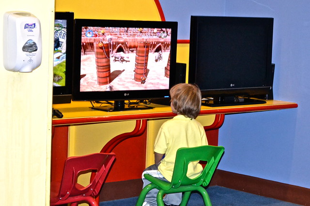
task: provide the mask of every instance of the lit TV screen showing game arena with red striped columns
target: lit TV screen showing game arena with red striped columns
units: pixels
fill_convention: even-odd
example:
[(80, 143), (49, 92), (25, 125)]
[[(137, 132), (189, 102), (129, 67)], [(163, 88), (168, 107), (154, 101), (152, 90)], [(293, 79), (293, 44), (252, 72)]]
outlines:
[(80, 91), (169, 89), (171, 29), (81, 28)]

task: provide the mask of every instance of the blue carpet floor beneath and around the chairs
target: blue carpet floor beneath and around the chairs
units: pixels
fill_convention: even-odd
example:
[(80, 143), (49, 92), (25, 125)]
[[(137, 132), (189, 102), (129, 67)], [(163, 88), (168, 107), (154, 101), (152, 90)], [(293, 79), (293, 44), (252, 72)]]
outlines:
[[(224, 187), (212, 186), (207, 189), (212, 206), (298, 206), (293, 203), (263, 197)], [(138, 197), (101, 202), (100, 206), (135, 206)], [(202, 196), (192, 193), (187, 206), (204, 206)]]

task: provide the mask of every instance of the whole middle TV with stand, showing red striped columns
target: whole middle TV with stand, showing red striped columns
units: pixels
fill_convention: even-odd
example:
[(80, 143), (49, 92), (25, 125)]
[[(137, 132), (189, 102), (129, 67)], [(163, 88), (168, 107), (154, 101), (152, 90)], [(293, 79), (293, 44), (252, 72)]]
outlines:
[(147, 109), (148, 100), (169, 98), (176, 46), (177, 22), (75, 19), (73, 101), (122, 111)]

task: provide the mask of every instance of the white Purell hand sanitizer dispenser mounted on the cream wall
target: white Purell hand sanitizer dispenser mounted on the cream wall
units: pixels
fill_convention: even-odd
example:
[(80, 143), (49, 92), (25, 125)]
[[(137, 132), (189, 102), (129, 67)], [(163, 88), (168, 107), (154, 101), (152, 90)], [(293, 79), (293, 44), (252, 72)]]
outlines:
[(6, 12), (3, 19), (3, 64), (12, 72), (32, 72), (42, 60), (41, 24), (28, 12)]

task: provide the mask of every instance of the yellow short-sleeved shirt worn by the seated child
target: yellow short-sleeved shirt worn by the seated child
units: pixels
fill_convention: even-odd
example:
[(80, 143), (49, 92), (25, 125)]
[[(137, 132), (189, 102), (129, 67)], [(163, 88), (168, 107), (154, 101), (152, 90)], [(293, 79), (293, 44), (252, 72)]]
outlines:
[[(158, 170), (171, 181), (176, 151), (181, 147), (199, 147), (208, 145), (207, 137), (202, 124), (193, 118), (186, 118), (177, 115), (166, 121), (155, 139), (154, 151), (165, 154), (161, 160)], [(202, 165), (198, 162), (191, 162), (188, 166), (187, 176), (197, 177), (202, 172)]]

